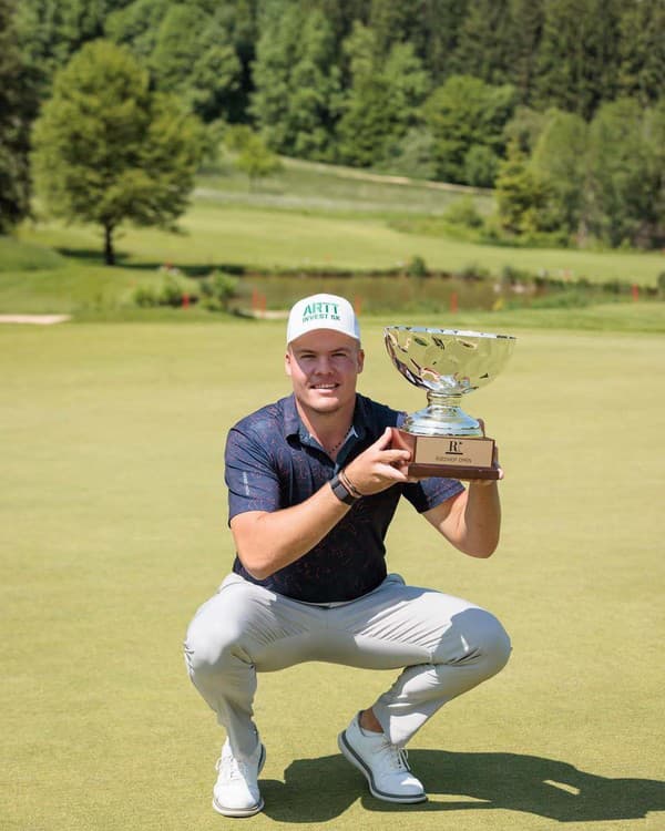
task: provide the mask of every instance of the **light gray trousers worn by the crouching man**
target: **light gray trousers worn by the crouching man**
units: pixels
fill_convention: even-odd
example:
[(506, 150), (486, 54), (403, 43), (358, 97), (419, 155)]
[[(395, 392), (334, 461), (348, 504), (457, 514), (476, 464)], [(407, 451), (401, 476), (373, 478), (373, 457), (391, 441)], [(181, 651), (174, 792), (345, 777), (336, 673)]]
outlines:
[(198, 609), (185, 640), (190, 677), (239, 759), (257, 743), (257, 673), (306, 660), (403, 669), (372, 705), (386, 736), (403, 747), (442, 705), (498, 673), (509, 655), (509, 637), (489, 612), (407, 586), (398, 574), (364, 597), (330, 607), (231, 574)]

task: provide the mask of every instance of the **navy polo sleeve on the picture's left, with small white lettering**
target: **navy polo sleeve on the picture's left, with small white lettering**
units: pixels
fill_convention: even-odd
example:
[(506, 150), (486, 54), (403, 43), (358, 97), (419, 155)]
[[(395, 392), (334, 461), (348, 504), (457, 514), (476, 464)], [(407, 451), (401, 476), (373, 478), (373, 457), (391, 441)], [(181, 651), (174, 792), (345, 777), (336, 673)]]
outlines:
[(249, 430), (232, 428), (224, 461), (229, 522), (246, 511), (272, 512), (280, 507), (279, 479), (266, 442), (258, 441)]

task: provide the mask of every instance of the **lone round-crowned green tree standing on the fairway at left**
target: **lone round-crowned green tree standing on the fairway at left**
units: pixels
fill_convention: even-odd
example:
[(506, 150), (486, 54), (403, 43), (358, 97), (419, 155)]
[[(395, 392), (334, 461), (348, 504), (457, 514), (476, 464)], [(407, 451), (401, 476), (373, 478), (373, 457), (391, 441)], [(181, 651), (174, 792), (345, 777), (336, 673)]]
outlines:
[(173, 228), (184, 212), (204, 147), (200, 122), (150, 90), (131, 53), (89, 43), (57, 73), (34, 125), (38, 193), (55, 216), (101, 225), (115, 261), (124, 222)]

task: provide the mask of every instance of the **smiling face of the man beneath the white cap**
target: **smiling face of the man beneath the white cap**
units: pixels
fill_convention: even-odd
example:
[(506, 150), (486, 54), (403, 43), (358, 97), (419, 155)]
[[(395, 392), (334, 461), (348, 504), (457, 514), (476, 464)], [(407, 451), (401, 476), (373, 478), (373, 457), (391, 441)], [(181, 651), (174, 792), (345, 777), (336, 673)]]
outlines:
[(317, 329), (293, 340), (285, 358), (298, 403), (331, 413), (356, 400), (356, 379), (365, 353), (359, 342), (334, 329)]

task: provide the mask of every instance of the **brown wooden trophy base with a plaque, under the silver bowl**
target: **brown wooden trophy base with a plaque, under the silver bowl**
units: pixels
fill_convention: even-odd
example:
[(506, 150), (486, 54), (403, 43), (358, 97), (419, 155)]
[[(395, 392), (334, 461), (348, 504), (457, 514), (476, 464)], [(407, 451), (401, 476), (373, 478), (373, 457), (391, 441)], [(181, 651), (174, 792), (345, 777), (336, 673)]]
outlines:
[(499, 479), (494, 440), (485, 437), (418, 435), (392, 428), (392, 447), (409, 450), (409, 475), (421, 479)]

